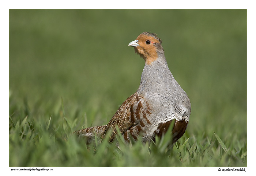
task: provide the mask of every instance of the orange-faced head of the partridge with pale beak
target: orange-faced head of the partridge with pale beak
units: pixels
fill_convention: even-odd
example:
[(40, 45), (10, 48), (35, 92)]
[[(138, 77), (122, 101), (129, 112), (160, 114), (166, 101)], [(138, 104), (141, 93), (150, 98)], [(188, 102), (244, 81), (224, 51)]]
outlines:
[(162, 40), (157, 37), (157, 34), (143, 32), (136, 40), (129, 43), (128, 46), (133, 46), (135, 52), (149, 65), (154, 60), (157, 60), (159, 54), (164, 53), (161, 43)]

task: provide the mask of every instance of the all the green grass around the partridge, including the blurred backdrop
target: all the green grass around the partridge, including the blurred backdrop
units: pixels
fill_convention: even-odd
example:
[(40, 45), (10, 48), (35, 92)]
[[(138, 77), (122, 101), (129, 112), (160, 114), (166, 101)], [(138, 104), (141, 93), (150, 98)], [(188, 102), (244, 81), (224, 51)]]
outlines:
[[(10, 167), (247, 167), (245, 9), (10, 9), (9, 19)], [(188, 128), (170, 150), (168, 135), (87, 149), (71, 133), (107, 124), (137, 90), (144, 61), (127, 45), (144, 31), (163, 40), (191, 99)]]

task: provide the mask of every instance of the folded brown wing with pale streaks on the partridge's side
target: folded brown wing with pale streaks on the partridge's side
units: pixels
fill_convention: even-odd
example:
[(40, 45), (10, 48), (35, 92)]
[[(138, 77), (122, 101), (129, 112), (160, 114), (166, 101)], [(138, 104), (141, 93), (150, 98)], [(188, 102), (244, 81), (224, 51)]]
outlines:
[(143, 100), (143, 97), (138, 95), (138, 93), (134, 93), (119, 107), (106, 126), (102, 137), (104, 138), (107, 133), (110, 133), (109, 137), (110, 141), (112, 141), (117, 133), (116, 127), (120, 130), (121, 134), (124, 134), (134, 126), (143, 126), (143, 121), (150, 123), (146, 117), (146, 114), (151, 114), (149, 109), (150, 108), (147, 102)]

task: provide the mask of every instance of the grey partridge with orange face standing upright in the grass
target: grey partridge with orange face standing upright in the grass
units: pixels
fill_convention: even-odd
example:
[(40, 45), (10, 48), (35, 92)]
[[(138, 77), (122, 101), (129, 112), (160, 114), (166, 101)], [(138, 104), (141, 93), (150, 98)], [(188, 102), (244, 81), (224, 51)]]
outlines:
[[(165, 58), (162, 40), (157, 34), (143, 32), (128, 46), (145, 60), (138, 90), (119, 107), (107, 125), (78, 130), (88, 141), (95, 135), (112, 142), (118, 133), (126, 143), (154, 141), (167, 130), (172, 133), (172, 144), (183, 136), (191, 114), (188, 95), (174, 79)], [(171, 125), (172, 124), (172, 125)]]

